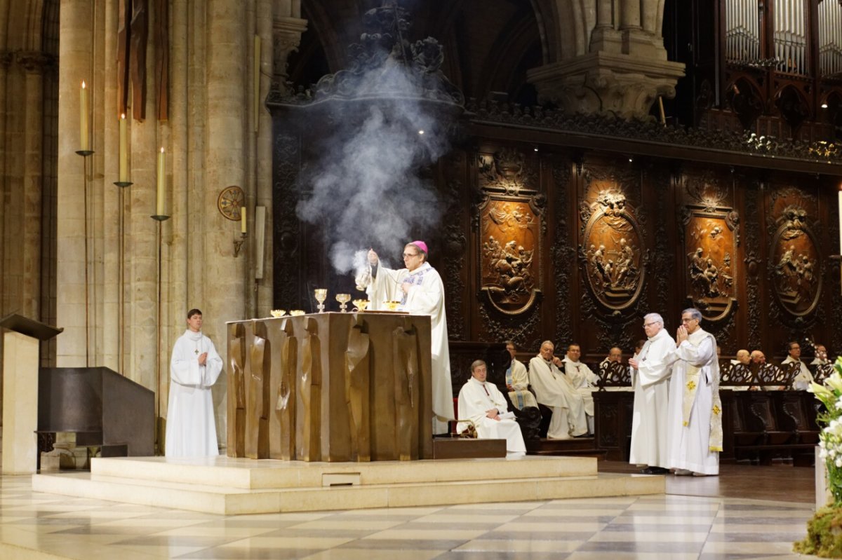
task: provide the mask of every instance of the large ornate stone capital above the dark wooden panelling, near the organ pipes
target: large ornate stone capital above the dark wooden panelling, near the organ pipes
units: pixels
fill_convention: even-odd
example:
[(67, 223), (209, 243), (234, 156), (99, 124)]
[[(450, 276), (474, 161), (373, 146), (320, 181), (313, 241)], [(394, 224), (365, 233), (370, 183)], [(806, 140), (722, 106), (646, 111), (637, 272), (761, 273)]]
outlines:
[(568, 113), (646, 119), (658, 96), (672, 98), (685, 65), (651, 56), (597, 51), (527, 72), (541, 100)]

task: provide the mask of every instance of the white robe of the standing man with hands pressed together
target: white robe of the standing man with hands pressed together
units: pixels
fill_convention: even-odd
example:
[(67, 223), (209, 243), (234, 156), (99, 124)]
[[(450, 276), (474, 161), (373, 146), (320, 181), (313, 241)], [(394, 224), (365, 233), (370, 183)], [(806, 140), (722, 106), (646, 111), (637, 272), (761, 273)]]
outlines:
[[(711, 408), (713, 392), (718, 387), (717, 341), (705, 330), (697, 329), (675, 349), (677, 361), (669, 383), (669, 464), (667, 468), (694, 473), (719, 474), (719, 452), (711, 452)], [(685, 385), (688, 367), (699, 368), (699, 383), (684, 425)]]

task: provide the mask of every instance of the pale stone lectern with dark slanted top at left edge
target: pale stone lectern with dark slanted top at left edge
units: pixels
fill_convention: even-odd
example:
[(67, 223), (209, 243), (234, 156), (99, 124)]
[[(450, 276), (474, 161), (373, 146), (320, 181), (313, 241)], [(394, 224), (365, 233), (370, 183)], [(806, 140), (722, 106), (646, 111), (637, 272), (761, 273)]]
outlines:
[(38, 461), (40, 341), (61, 333), (19, 314), (0, 319), (3, 333), (3, 474), (35, 473)]

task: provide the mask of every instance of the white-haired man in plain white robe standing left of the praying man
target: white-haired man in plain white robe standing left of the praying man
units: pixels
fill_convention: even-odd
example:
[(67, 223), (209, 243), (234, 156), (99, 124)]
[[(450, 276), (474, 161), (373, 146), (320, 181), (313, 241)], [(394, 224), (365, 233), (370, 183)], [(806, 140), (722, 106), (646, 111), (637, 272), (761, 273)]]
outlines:
[(643, 474), (669, 473), (669, 376), (675, 362), (675, 341), (657, 313), (643, 317), (647, 341), (629, 359), (634, 409), (629, 462)]

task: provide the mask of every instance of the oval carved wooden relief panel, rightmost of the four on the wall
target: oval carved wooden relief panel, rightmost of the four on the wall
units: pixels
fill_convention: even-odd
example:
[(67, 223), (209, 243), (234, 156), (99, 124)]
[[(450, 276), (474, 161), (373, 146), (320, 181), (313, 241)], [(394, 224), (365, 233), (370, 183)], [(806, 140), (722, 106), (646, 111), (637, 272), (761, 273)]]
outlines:
[(772, 235), (770, 280), (786, 313), (803, 317), (816, 309), (822, 293), (821, 256), (807, 209), (811, 204), (796, 189), (779, 194), (773, 198), (779, 211)]

